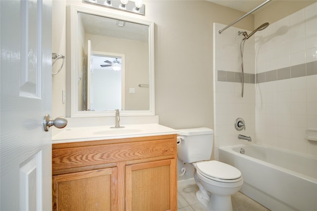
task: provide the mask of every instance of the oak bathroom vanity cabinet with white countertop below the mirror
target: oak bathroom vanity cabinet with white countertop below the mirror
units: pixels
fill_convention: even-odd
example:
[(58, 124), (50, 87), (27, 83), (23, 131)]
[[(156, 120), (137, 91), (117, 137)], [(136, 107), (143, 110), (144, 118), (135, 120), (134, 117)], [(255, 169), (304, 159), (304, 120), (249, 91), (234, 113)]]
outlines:
[(94, 132), (96, 140), (53, 140), (53, 211), (177, 210), (176, 130), (126, 129), (131, 133)]

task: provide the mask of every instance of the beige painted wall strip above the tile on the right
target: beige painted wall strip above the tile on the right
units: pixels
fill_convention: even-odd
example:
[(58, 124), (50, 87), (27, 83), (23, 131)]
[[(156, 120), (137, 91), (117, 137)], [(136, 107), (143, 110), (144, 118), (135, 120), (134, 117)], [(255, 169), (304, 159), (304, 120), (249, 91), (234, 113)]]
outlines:
[(314, 2), (316, 0), (272, 0), (254, 15), (255, 28), (265, 22), (274, 23)]

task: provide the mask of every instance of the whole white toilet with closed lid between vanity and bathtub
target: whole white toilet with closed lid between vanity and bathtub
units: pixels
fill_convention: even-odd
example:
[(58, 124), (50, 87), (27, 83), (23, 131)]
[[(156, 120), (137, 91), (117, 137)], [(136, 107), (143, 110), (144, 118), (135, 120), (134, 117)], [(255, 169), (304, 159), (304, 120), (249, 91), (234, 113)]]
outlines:
[(195, 168), (198, 202), (207, 211), (232, 211), (231, 195), (243, 184), (240, 170), (218, 161), (209, 161), (213, 130), (207, 127), (178, 129), (177, 157)]

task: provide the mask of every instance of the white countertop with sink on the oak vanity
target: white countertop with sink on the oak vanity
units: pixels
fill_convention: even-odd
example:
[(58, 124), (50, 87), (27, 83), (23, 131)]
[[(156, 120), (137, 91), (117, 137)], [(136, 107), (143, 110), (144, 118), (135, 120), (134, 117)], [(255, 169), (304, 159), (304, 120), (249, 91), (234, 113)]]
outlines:
[(178, 131), (159, 124), (122, 125), (124, 128), (68, 127), (53, 135), (52, 143), (69, 143), (78, 141), (131, 138), (154, 135), (176, 134)]

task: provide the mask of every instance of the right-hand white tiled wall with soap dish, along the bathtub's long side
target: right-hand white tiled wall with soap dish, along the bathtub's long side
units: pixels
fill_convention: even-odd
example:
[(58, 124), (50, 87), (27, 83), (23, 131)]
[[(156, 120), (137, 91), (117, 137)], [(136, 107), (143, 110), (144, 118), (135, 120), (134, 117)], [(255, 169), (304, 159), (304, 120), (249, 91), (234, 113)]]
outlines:
[(317, 156), (317, 3), (255, 36), (256, 141)]

